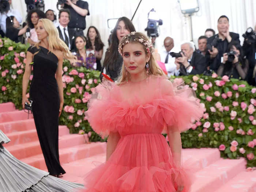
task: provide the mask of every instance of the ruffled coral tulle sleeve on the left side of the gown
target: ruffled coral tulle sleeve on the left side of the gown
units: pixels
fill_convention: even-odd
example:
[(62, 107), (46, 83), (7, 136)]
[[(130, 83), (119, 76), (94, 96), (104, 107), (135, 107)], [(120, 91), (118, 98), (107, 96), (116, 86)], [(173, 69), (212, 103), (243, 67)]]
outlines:
[(110, 131), (116, 131), (116, 121), (112, 119), (116, 114), (111, 114), (116, 112), (111, 109), (118, 106), (118, 98), (115, 97), (117, 94), (114, 91), (116, 88), (114, 82), (106, 81), (99, 84), (87, 103), (88, 110), (85, 116), (93, 130), (102, 138), (109, 135)]

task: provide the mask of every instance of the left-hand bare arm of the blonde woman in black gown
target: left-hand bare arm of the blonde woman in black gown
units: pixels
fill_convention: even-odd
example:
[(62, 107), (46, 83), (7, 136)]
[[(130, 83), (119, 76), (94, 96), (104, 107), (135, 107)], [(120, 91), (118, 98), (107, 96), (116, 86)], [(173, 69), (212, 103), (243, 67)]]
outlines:
[(27, 94), (27, 85), (29, 84), (29, 77), (30, 77), (30, 74), (32, 71), (30, 63), (32, 62), (33, 54), (28, 51), (26, 58), (27, 58), (27, 63), (25, 66), (25, 72), (23, 74), (23, 79), (22, 79), (22, 106), (23, 106), (23, 109), (25, 107), (25, 102), (29, 103), (29, 101), (27, 100), (26, 94)]

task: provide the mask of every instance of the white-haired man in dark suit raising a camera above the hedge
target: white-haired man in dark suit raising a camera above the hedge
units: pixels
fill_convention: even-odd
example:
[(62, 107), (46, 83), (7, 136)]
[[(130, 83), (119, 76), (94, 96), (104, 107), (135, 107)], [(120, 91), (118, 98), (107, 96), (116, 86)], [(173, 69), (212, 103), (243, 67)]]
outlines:
[(175, 75), (202, 74), (207, 67), (205, 57), (194, 51), (195, 46), (191, 42), (181, 45), (182, 57), (175, 58), (177, 65)]

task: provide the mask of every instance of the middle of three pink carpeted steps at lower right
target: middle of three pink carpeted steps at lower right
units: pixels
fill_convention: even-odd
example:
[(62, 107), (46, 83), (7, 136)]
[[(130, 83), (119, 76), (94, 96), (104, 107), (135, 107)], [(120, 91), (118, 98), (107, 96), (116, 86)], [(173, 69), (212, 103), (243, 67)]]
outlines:
[(216, 192), (234, 176), (245, 170), (246, 160), (220, 159), (196, 172), (192, 184), (193, 192)]

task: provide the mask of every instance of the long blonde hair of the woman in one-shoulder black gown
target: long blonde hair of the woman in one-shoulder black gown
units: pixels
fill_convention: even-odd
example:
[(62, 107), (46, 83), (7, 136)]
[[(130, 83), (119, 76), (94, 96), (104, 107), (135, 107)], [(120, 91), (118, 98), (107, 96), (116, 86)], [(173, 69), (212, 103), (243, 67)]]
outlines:
[[(53, 22), (49, 19), (39, 19), (38, 22), (43, 23), (44, 29), (48, 34), (47, 39), (49, 42), (49, 52), (52, 52), (53, 50), (60, 50), (61, 52), (63, 52), (63, 57), (65, 59), (75, 59), (75, 56), (69, 51), (68, 46), (63, 40), (60, 39), (59, 31), (53, 25)], [(41, 41), (37, 42), (34, 47), (37, 47), (37, 49), (39, 49), (40, 42)], [(38, 52), (34, 53), (34, 55), (37, 53)]]

